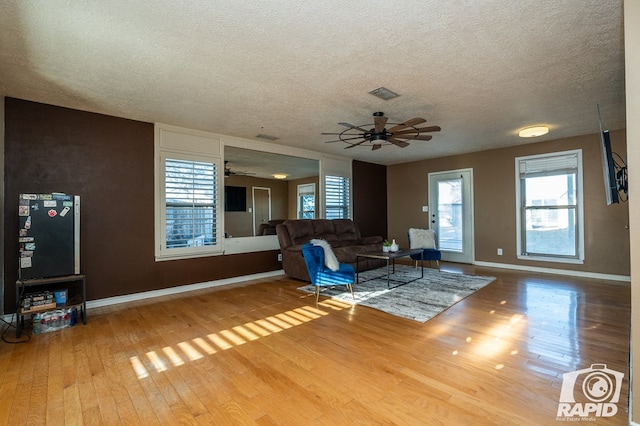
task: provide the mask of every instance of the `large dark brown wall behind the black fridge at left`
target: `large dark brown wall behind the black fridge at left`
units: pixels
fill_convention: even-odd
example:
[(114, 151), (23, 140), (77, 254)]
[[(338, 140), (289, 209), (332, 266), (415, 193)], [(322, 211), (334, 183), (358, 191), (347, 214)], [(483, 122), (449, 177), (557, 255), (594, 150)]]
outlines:
[(155, 262), (153, 138), (151, 123), (5, 98), (5, 312), (22, 192), (81, 196), (89, 300), (281, 269), (275, 251)]

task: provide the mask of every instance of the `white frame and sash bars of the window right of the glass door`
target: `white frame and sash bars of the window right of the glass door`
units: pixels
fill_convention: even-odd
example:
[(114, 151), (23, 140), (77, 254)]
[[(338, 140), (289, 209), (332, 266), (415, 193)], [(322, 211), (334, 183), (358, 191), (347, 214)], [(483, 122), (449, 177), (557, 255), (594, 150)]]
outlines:
[[(575, 256), (563, 256), (563, 255), (555, 255), (555, 254), (528, 254), (526, 253), (526, 238), (525, 238), (525, 226), (526, 226), (526, 212), (527, 209), (525, 206), (526, 203), (526, 194), (524, 193), (524, 182), (526, 180), (526, 176), (521, 176), (521, 164), (527, 161), (540, 161), (546, 160), (551, 161), (553, 159), (560, 159), (561, 157), (576, 157), (576, 171), (575, 171), (575, 245), (576, 245), (576, 255)], [(567, 170), (562, 167), (549, 167), (545, 169), (546, 175), (563, 175), (567, 173), (562, 173), (563, 170)], [(542, 176), (541, 174), (534, 174), (531, 177)], [(523, 157), (516, 157), (515, 159), (515, 187), (516, 187), (516, 252), (517, 258), (520, 260), (531, 260), (531, 261), (542, 261), (542, 262), (557, 262), (557, 263), (568, 263), (568, 264), (583, 264), (584, 263), (584, 196), (583, 196), (583, 164), (582, 164), (582, 150), (569, 150), (569, 151), (561, 151), (561, 152), (552, 152), (545, 154), (537, 154), (537, 155), (529, 155)], [(562, 206), (543, 206), (547, 209), (551, 207), (552, 209), (560, 209), (567, 207), (565, 205)]]

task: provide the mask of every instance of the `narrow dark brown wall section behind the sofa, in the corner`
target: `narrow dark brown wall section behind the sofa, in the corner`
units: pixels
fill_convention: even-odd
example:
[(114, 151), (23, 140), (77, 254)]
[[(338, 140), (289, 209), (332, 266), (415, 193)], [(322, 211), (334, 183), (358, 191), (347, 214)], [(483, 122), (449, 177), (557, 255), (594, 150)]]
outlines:
[(363, 236), (387, 237), (387, 167), (354, 160), (353, 220)]

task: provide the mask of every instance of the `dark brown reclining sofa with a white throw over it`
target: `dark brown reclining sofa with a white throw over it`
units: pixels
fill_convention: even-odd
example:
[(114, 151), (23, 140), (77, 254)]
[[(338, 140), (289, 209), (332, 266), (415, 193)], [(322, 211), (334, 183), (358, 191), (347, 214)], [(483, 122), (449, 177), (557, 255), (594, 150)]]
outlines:
[[(380, 236), (362, 237), (358, 225), (351, 219), (296, 219), (286, 220), (276, 226), (282, 268), (290, 277), (303, 281), (309, 280), (307, 266), (302, 257), (302, 246), (310, 240), (322, 239), (331, 244), (340, 263), (349, 263), (356, 267), (356, 253), (382, 251), (383, 238)], [(383, 260), (360, 259), (361, 271), (385, 265)]]

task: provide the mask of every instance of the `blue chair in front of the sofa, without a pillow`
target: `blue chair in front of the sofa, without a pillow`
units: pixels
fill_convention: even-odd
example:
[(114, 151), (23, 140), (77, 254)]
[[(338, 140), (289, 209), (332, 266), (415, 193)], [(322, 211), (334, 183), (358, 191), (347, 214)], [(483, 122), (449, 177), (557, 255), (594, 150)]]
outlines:
[(324, 249), (313, 244), (302, 246), (302, 255), (307, 264), (311, 284), (316, 287), (316, 303), (320, 296), (320, 287), (344, 285), (353, 295), (353, 283), (356, 280), (356, 271), (348, 263), (341, 263), (337, 271), (332, 271), (324, 265)]

